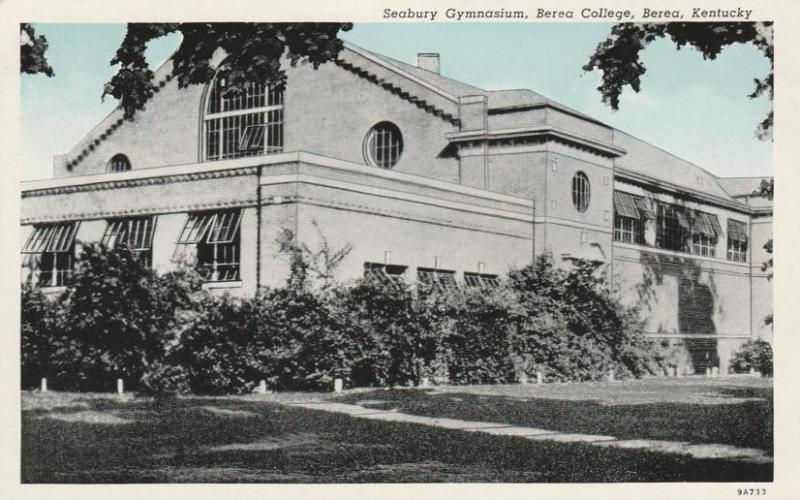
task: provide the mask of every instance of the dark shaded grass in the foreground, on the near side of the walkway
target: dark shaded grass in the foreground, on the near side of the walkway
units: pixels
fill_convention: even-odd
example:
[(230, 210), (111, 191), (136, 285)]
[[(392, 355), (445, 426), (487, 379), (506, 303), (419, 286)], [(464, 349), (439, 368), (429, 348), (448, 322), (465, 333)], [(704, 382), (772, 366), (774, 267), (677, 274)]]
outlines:
[[(97, 398), (77, 403), (79, 412), (64, 407), (23, 412), (23, 482), (772, 479), (771, 464), (531, 442), (233, 398), (159, 402)], [(87, 418), (59, 419), (69, 414)], [(129, 423), (89, 418), (97, 415)]]

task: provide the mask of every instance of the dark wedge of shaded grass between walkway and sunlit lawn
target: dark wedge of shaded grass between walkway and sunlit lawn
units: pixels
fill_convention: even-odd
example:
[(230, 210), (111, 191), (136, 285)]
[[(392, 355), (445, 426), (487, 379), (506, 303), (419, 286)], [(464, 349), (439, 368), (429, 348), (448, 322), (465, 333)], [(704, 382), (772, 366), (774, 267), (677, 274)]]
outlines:
[[(595, 399), (491, 396), (434, 390), (378, 390), (340, 401), (426, 417), (497, 422), (565, 433), (717, 443), (772, 454), (773, 400), (768, 388), (703, 388), (708, 402), (636, 404)], [(452, 392), (450, 392), (452, 391)], [(730, 399), (731, 402), (725, 402)], [(370, 402), (372, 400), (372, 402)], [(716, 403), (712, 402), (716, 401)], [(720, 403), (719, 401), (723, 401)]]

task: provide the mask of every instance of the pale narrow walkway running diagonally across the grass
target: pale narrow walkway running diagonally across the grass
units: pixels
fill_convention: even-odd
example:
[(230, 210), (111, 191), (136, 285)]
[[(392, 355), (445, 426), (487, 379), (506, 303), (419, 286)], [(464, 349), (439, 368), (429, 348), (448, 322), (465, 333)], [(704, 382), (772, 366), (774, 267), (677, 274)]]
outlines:
[(751, 463), (771, 463), (772, 457), (765, 451), (756, 448), (739, 448), (736, 446), (715, 443), (689, 443), (684, 441), (661, 441), (653, 439), (618, 439), (614, 436), (595, 434), (572, 434), (534, 427), (491, 422), (474, 422), (452, 418), (423, 417), (400, 413), (396, 410), (377, 410), (363, 406), (336, 403), (330, 401), (289, 403), (311, 410), (322, 410), (331, 413), (343, 413), (351, 417), (385, 422), (407, 422), (429, 425), (444, 429), (455, 429), (466, 432), (483, 432), (495, 436), (513, 436), (531, 441), (557, 441), (561, 443), (588, 443), (595, 446), (639, 449), (660, 453), (689, 455), (693, 458), (723, 458)]

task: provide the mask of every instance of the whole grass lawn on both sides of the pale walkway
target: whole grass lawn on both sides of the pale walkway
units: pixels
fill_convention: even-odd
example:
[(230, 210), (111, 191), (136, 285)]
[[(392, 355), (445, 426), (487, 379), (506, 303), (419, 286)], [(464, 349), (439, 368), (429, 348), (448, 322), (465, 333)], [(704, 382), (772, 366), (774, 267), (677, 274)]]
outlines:
[[(381, 422), (288, 394), (155, 401), (22, 394), (23, 482), (767, 481), (772, 464), (692, 459)], [(772, 449), (772, 388), (686, 379), (353, 391), (342, 402), (464, 420)], [(365, 402), (367, 401), (367, 402)]]

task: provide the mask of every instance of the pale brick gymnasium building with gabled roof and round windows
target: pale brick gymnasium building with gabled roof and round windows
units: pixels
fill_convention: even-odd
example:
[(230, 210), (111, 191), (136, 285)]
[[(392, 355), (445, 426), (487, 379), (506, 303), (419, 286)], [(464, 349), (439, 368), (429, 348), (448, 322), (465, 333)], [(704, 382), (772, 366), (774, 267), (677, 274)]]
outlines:
[(353, 250), (339, 279), (491, 285), (550, 253), (601, 262), (695, 370), (770, 339), (761, 270), (772, 207), (760, 178), (718, 178), (528, 90), (485, 91), (347, 45), (287, 69), (285, 90), (178, 89), (169, 63), (133, 121), (115, 110), (52, 179), (22, 187), (23, 275), (57, 291), (81, 242), (125, 241), (159, 270), (196, 263), (210, 289), (278, 286), (279, 232)]

